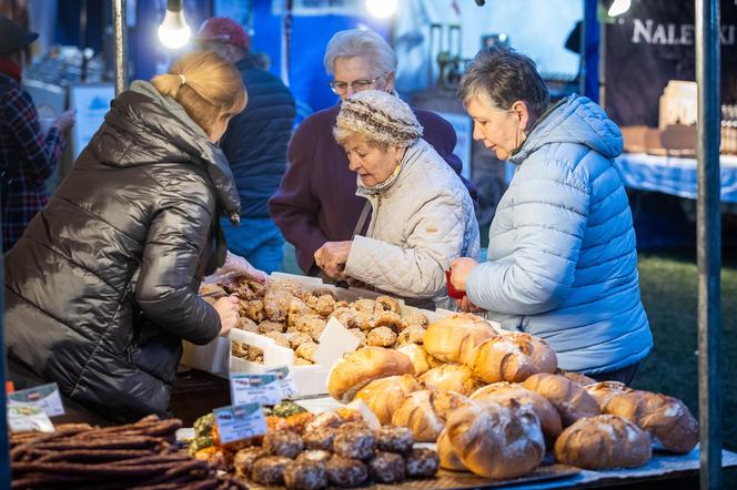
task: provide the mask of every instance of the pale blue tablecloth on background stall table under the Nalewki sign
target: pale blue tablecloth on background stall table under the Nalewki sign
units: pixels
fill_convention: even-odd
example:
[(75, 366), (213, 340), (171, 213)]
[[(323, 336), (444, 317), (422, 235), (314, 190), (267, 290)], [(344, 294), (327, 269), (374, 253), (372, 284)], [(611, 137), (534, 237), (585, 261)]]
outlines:
[[(721, 202), (737, 203), (737, 156), (719, 159)], [(625, 153), (616, 165), (627, 187), (656, 191), (695, 200), (697, 192), (696, 159)]]

